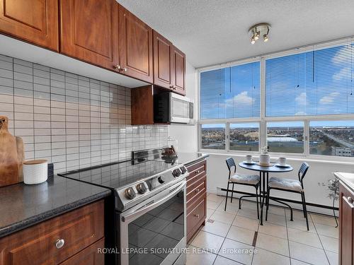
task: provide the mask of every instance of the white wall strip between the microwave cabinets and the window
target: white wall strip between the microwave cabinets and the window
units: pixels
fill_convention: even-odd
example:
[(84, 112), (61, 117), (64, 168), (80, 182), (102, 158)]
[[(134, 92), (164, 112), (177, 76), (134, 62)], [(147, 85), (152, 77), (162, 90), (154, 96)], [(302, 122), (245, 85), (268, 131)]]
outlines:
[[(198, 119), (198, 97), (197, 97), (197, 71), (186, 63), (185, 86), (186, 96), (194, 100), (195, 122)], [(169, 126), (169, 136), (178, 141), (179, 152), (196, 152), (198, 150), (198, 126), (186, 124), (171, 124)]]

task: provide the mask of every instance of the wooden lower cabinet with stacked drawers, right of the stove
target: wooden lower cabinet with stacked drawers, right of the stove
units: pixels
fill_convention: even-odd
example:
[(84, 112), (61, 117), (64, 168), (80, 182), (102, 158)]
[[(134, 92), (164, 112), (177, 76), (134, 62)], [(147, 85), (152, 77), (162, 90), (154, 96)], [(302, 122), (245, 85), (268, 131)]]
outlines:
[(187, 170), (187, 242), (205, 225), (207, 218), (207, 161), (188, 165)]

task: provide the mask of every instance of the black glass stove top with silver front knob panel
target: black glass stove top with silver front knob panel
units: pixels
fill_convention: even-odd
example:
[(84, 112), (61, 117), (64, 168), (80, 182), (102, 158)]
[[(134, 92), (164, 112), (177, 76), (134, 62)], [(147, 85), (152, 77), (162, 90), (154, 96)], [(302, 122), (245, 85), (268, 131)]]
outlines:
[(113, 189), (115, 207), (123, 211), (185, 179), (188, 171), (179, 163), (136, 158), (58, 175)]

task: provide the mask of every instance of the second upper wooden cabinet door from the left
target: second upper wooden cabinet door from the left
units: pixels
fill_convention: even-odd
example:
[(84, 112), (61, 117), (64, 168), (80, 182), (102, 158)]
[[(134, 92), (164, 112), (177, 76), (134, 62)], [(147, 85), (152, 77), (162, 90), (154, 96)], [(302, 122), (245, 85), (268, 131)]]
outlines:
[(60, 0), (60, 52), (113, 70), (118, 64), (115, 0)]

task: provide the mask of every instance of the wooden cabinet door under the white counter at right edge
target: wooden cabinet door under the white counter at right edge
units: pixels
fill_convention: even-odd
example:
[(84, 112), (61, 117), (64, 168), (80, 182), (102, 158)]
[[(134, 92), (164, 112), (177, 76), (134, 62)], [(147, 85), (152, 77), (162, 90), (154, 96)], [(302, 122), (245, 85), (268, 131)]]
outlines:
[(339, 264), (353, 264), (354, 195), (341, 185), (339, 189)]

